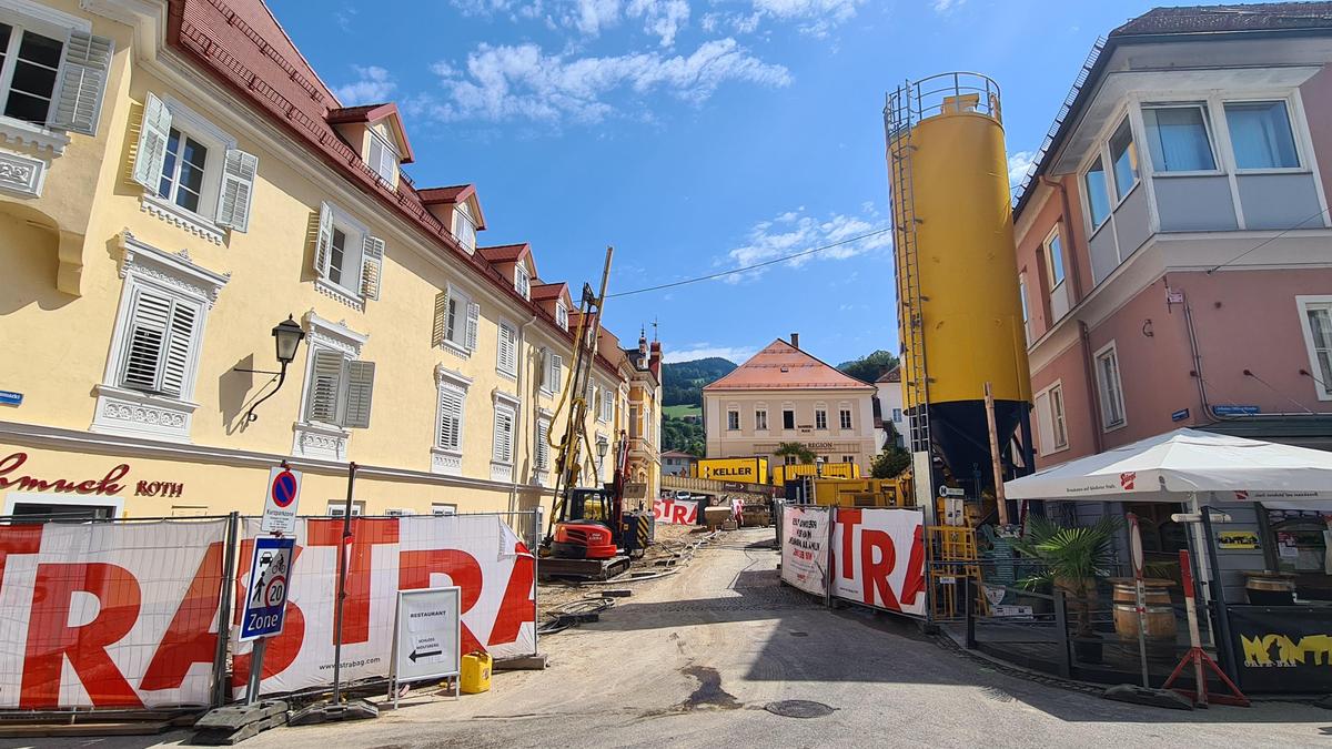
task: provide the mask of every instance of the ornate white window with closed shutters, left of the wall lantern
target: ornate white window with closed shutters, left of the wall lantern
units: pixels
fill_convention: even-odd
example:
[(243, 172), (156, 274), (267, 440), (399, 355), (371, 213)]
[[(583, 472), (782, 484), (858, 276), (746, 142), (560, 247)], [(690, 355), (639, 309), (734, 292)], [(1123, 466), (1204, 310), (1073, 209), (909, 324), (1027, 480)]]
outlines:
[(125, 281), (92, 428), (188, 438), (204, 321), (226, 277), (128, 235), (121, 240)]

